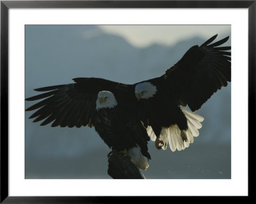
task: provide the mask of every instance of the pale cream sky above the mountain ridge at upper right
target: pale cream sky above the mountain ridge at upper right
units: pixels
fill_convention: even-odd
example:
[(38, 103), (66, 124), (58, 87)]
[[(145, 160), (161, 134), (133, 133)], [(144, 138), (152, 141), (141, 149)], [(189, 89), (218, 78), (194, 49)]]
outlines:
[[(230, 32), (230, 25), (131, 25), (131, 26), (99, 26), (104, 32), (119, 35), (136, 47), (147, 47), (151, 43), (174, 45), (180, 40), (201, 36), (209, 38), (213, 35), (224, 35)], [(95, 34), (95, 33), (94, 33)]]

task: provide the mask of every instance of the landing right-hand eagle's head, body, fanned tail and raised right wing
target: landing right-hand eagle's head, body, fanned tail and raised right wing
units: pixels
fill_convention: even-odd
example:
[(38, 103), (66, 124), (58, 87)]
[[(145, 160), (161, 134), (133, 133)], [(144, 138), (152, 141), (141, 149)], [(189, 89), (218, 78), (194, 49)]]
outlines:
[[(204, 118), (192, 113), (200, 109), (216, 91), (231, 81), (231, 47), (218, 47), (229, 37), (191, 47), (161, 76), (134, 84), (148, 120), (148, 134), (157, 148), (184, 150), (199, 135)], [(180, 106), (189, 106), (191, 111)], [(154, 107), (154, 109), (152, 109)]]

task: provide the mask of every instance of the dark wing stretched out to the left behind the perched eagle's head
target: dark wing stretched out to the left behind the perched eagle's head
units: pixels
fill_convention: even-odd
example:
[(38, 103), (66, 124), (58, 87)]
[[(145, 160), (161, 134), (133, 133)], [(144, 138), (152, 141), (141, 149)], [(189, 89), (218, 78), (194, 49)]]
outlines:
[[(96, 100), (99, 91), (111, 91), (117, 102), (132, 104), (134, 91), (132, 86), (99, 78), (76, 78), (75, 83), (47, 86), (35, 91), (47, 91), (26, 100), (41, 100), (26, 109), (33, 111), (33, 122), (44, 120), (41, 125), (52, 123), (52, 127), (92, 127)], [(131, 97), (132, 96), (132, 97)]]

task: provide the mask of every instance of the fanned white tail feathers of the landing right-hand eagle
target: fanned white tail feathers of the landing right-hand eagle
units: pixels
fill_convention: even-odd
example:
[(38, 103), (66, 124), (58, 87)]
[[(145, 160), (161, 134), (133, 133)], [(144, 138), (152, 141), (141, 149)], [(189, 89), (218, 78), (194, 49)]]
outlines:
[[(172, 152), (175, 152), (175, 150), (184, 150), (185, 148), (189, 147), (190, 143), (193, 143), (194, 137), (199, 135), (198, 129), (202, 127), (201, 122), (204, 121), (204, 118), (184, 108), (180, 109), (185, 114), (188, 121), (188, 130), (182, 130), (182, 134), (186, 134), (188, 141), (182, 140), (181, 131), (178, 125), (171, 125), (168, 128), (163, 128), (159, 136), (159, 139), (161, 139), (164, 143), (162, 146), (163, 150), (166, 150), (168, 143)], [(147, 132), (151, 140), (156, 141), (156, 134), (154, 134), (154, 131), (150, 125), (147, 127)]]

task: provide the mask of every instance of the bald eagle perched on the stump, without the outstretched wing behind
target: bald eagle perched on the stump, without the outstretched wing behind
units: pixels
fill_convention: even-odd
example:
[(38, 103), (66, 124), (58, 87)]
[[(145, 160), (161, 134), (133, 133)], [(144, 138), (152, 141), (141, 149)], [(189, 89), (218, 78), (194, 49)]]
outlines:
[(145, 160), (145, 157), (150, 159), (147, 130), (129, 104), (118, 104), (113, 93), (100, 91), (92, 125), (109, 148), (129, 155), (140, 169), (148, 168)]

